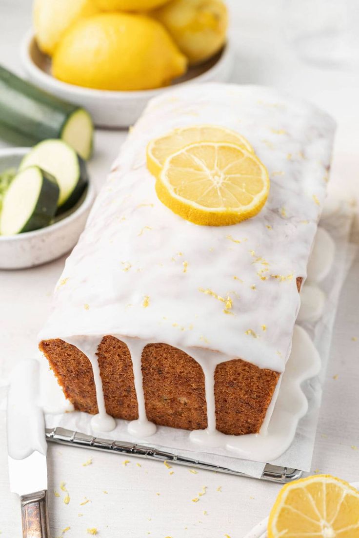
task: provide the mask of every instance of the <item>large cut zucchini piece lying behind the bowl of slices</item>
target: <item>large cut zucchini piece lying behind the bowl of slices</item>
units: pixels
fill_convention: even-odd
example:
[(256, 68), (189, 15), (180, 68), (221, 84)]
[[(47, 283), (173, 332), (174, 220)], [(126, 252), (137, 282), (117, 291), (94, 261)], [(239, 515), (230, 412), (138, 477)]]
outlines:
[(61, 138), (83, 159), (92, 152), (94, 125), (84, 108), (40, 90), (0, 66), (0, 136), (32, 146)]

